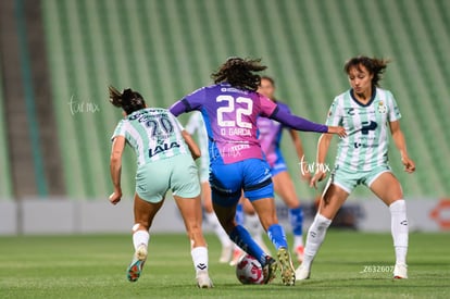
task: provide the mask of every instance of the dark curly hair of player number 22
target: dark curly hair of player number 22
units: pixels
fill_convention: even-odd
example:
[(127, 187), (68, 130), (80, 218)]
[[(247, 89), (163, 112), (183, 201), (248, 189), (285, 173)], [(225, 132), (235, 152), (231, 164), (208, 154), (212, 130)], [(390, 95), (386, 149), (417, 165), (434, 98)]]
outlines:
[(228, 58), (211, 77), (215, 84), (229, 83), (233, 87), (255, 91), (261, 83), (261, 76), (254, 74), (267, 68), (261, 65), (261, 59)]

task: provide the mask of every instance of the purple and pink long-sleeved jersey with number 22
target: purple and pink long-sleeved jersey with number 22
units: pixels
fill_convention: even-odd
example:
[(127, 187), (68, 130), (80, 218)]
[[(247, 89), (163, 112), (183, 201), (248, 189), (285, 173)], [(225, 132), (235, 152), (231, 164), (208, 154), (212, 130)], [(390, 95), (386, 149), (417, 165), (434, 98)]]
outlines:
[(279, 110), (266, 97), (241, 90), (227, 83), (200, 88), (172, 105), (178, 116), (198, 110), (202, 113), (209, 138), (211, 159), (222, 158), (225, 164), (246, 159), (263, 159), (257, 138), (257, 119), (271, 117), (301, 130), (326, 133), (328, 127)]

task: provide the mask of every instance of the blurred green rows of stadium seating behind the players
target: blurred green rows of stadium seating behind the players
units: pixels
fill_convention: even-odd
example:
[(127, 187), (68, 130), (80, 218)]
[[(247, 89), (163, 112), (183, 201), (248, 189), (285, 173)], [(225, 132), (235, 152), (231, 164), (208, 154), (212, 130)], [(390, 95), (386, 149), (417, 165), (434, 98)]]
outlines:
[[(109, 139), (122, 115), (108, 102), (110, 84), (139, 90), (151, 105), (170, 107), (210, 84), (227, 57), (262, 58), (279, 100), (324, 122), (333, 98), (348, 88), (342, 64), (358, 54), (392, 60), (382, 86), (396, 96), (417, 166), (414, 175), (404, 173), (390, 142), (405, 197), (450, 196), (450, 167), (442, 160), (450, 152), (450, 130), (442, 129), (450, 127), (450, 1), (42, 0), (41, 8), (68, 198), (111, 191)], [(318, 135), (300, 136), (305, 159), (313, 161)], [(300, 161), (288, 136), (282, 148), (298, 176)], [(123, 190), (132, 194), (133, 152), (123, 161)], [(301, 199), (314, 196), (307, 184), (296, 188)], [(359, 188), (352, 196), (371, 194)]]

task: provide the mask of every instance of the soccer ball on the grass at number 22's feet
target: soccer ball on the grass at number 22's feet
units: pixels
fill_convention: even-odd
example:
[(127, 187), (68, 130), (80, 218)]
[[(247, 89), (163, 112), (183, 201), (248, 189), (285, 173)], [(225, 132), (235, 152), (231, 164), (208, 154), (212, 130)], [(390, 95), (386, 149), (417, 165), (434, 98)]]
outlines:
[(239, 259), (236, 264), (236, 276), (245, 285), (261, 285), (264, 282), (260, 262), (249, 254)]

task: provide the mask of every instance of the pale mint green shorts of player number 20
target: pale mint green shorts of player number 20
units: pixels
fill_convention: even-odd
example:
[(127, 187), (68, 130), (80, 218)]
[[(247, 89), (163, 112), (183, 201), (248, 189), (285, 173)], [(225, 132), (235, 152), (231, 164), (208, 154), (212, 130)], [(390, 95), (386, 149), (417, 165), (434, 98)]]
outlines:
[(200, 195), (197, 165), (190, 154), (147, 163), (137, 170), (136, 192), (141, 199), (158, 203), (170, 189), (184, 198)]

